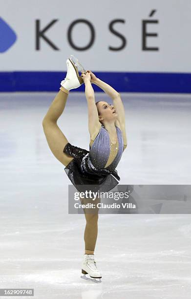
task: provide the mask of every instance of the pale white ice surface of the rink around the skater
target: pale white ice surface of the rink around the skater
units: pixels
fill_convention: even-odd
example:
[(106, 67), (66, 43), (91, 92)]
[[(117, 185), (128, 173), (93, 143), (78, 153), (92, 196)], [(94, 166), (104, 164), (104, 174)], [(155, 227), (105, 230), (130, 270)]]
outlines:
[[(120, 184), (191, 184), (191, 95), (121, 95)], [(68, 214), (70, 182), (42, 130), (54, 96), (0, 94), (0, 288), (34, 288), (38, 299), (190, 299), (190, 214), (99, 215), (102, 283), (80, 278), (85, 216)], [(69, 94), (58, 125), (88, 149), (84, 93)]]

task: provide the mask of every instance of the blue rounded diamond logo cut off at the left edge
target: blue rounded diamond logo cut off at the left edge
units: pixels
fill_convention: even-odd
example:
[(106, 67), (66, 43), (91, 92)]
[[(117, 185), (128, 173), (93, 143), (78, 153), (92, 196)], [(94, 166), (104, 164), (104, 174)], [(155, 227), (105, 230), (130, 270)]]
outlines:
[(0, 18), (0, 53), (6, 52), (16, 40), (15, 31)]

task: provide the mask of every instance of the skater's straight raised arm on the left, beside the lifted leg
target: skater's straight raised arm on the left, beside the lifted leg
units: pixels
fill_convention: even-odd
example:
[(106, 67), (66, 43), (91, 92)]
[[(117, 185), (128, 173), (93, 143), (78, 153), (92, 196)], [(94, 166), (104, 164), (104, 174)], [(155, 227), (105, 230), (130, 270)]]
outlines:
[(85, 97), (87, 100), (88, 107), (88, 129), (92, 140), (97, 136), (101, 128), (101, 123), (99, 122), (98, 110), (95, 105), (95, 95), (93, 87), (91, 86), (90, 79), (84, 79), (85, 83)]

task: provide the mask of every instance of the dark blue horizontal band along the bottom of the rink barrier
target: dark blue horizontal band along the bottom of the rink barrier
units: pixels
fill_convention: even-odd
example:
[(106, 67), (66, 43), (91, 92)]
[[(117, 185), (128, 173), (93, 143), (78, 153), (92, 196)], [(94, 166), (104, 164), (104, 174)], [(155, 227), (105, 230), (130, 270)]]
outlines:
[[(191, 93), (191, 73), (96, 72), (118, 92)], [(0, 72), (0, 91), (58, 91), (65, 72)], [(102, 91), (93, 85), (95, 91)], [(84, 91), (84, 85), (75, 92)]]

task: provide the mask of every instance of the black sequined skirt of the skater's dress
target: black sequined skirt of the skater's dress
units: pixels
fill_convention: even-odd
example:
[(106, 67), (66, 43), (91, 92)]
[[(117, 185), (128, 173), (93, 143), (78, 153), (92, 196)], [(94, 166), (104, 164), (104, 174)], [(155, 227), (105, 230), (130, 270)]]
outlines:
[(119, 184), (120, 177), (117, 170), (96, 169), (91, 163), (88, 150), (67, 143), (63, 152), (74, 157), (64, 170), (79, 192), (86, 190), (108, 192)]

